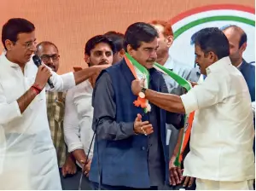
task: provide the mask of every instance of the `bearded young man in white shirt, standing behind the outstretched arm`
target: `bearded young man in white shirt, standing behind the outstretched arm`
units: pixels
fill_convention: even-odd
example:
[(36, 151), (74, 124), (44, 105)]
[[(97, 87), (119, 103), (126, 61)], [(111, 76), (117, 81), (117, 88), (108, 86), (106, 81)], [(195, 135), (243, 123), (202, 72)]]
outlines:
[[(103, 35), (98, 35), (90, 38), (85, 44), (84, 61), (89, 67), (112, 64), (113, 53), (114, 45), (112, 41)], [(65, 140), (68, 152), (73, 154), (79, 165), (79, 174), (84, 173), (81, 189), (86, 190), (90, 189), (88, 176), (93, 153), (93, 149), (90, 149), (90, 142), (93, 140), (91, 97), (96, 77), (97, 75), (68, 90), (65, 105)], [(83, 168), (83, 171), (81, 171), (81, 168)]]

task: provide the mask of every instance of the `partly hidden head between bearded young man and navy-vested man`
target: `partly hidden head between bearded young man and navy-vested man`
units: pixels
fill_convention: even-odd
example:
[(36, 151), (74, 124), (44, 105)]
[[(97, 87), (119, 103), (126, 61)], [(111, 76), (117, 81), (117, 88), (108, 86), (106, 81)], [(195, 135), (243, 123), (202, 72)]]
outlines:
[(104, 34), (107, 38), (112, 40), (114, 47), (115, 47), (115, 53), (113, 55), (113, 64), (118, 63), (121, 61), (125, 55), (125, 49), (124, 49), (124, 38), (125, 35), (120, 32), (107, 32)]

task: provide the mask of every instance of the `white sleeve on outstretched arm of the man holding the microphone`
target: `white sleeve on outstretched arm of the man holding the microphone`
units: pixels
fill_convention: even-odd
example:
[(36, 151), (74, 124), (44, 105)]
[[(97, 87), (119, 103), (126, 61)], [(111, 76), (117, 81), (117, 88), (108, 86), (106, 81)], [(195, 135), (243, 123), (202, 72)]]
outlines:
[(54, 84), (54, 88), (50, 89), (49, 84), (46, 84), (45, 88), (49, 91), (65, 91), (73, 88), (76, 83), (73, 76), (73, 72), (68, 72), (62, 75), (52, 72), (51, 81)]

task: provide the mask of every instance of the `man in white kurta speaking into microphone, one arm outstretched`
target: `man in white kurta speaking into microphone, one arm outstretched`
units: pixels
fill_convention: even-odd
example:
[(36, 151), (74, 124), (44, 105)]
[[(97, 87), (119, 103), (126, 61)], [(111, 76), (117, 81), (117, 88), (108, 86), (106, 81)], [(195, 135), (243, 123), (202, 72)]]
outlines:
[[(35, 26), (21, 18), (3, 25), (2, 43), (6, 51), (0, 55), (0, 189), (61, 189), (45, 90), (69, 90), (110, 65), (63, 75), (45, 65), (36, 67)], [(47, 84), (49, 78), (54, 88)]]

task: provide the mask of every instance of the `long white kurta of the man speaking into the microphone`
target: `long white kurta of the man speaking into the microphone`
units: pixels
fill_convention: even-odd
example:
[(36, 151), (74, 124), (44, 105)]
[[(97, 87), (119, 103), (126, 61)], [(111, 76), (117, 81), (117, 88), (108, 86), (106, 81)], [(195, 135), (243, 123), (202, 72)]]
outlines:
[[(0, 56), (0, 189), (61, 189), (56, 153), (46, 113), (45, 89), (24, 113), (17, 99), (35, 82), (38, 67), (24, 68)], [(53, 90), (75, 85), (73, 73), (52, 72)], [(49, 90), (48, 84), (46, 89)]]

